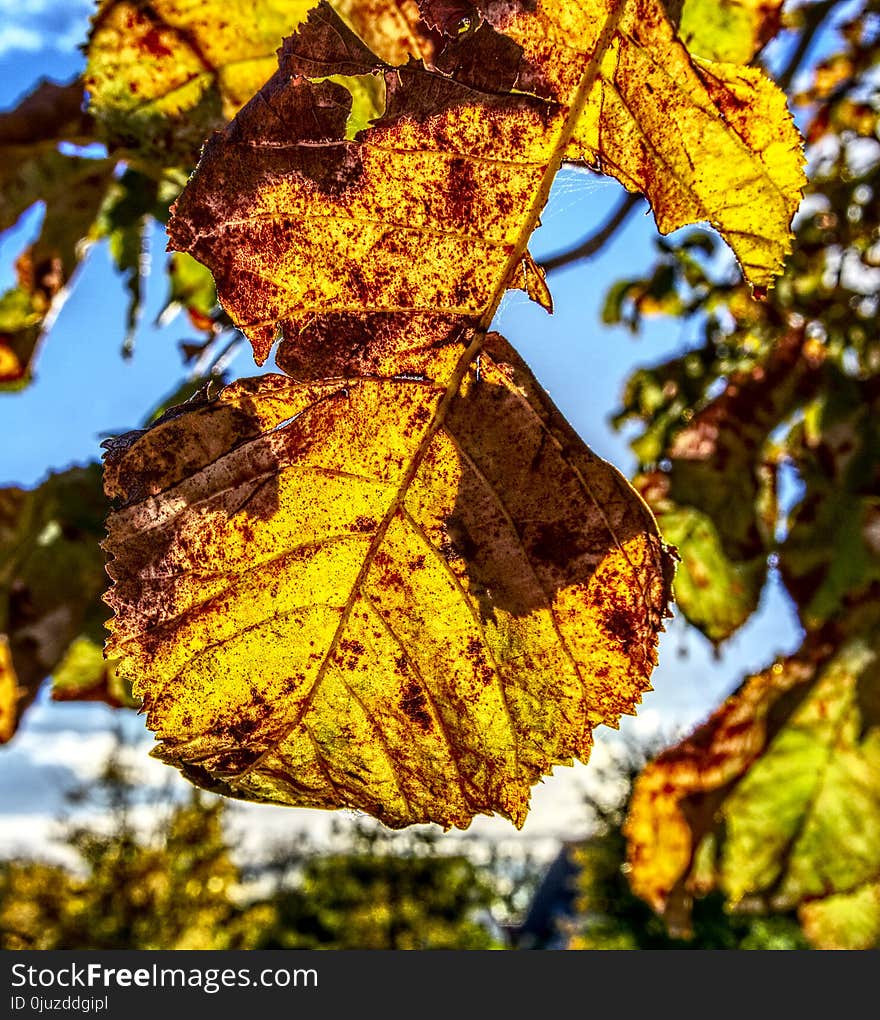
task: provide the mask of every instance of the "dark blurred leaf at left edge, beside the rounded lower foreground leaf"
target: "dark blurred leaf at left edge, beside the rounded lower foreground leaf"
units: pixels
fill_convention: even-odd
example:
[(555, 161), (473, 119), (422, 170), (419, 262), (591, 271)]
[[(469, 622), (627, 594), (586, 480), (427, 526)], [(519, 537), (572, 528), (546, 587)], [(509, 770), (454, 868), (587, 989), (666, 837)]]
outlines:
[(97, 465), (0, 490), (0, 743), (81, 634), (106, 616)]

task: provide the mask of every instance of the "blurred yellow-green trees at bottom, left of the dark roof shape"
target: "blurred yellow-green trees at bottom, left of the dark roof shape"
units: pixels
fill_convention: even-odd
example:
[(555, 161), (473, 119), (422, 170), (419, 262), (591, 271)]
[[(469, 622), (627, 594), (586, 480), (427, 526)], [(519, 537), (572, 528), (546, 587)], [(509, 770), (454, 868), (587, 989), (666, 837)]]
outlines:
[(98, 819), (61, 825), (73, 867), (0, 865), (2, 949), (500, 949), (533, 880), (522, 861), (478, 866), (434, 833), (363, 821), (338, 823), (320, 849), (299, 838), (243, 862), (220, 798), (159, 801), (159, 823), (139, 827), (119, 749), (70, 799)]

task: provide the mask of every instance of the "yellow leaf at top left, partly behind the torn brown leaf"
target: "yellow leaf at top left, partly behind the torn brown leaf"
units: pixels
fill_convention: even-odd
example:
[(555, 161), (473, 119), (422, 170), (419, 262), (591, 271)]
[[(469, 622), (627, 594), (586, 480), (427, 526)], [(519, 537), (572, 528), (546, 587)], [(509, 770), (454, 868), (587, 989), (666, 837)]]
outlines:
[[(160, 161), (195, 160), (276, 67), (281, 39), (314, 0), (103, 0), (89, 39), (90, 110), (111, 138)], [(389, 61), (429, 52), (413, 2), (340, 0)]]

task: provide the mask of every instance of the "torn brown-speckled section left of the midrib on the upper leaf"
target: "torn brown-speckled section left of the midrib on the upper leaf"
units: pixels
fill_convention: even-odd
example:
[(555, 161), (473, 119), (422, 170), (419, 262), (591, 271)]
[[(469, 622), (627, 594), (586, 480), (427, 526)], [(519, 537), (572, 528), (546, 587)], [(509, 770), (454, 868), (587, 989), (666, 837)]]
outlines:
[[(214, 273), (258, 363), (280, 333), (277, 363), (299, 377), (415, 373), (464, 322), (487, 326), (508, 286), (547, 303), (526, 244), (577, 111), (485, 91), (485, 67), (512, 86), (519, 61), (483, 26), (449, 73), (390, 67), (326, 3), (284, 41), (168, 225)], [(339, 74), (384, 81), (383, 115), (354, 139)]]

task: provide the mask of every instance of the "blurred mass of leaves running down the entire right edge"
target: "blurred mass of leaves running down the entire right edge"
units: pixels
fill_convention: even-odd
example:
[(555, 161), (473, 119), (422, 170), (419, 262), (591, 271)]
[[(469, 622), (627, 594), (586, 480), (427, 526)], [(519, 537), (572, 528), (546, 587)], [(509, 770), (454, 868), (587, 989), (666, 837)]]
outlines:
[(636, 487), (677, 542), (680, 608), (722, 641), (775, 567), (805, 630), (636, 783), (633, 887), (678, 930), (718, 888), (744, 911), (797, 908), (822, 948), (880, 937), (878, 16), (862, 4), (798, 96), (812, 180), (769, 300), (710, 270), (703, 236), (664, 244), (607, 306), (636, 327), (701, 323), (621, 413), (643, 425)]

